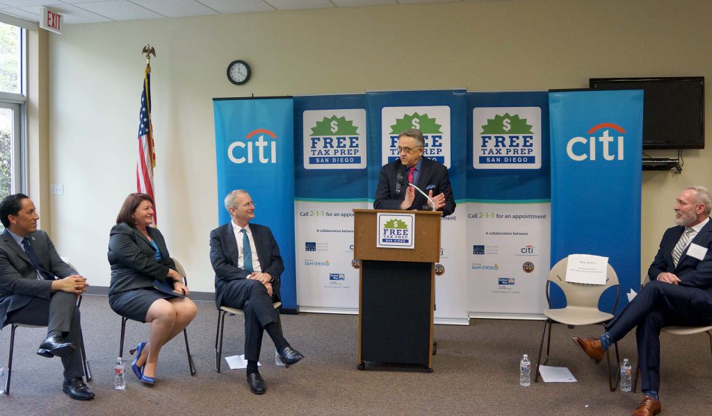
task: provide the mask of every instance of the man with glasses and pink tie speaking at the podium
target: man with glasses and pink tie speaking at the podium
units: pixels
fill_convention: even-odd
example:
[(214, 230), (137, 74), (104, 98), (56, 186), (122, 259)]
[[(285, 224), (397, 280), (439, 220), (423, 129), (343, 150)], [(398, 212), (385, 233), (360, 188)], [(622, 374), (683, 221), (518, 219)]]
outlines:
[[(450, 178), (444, 164), (423, 157), (425, 139), (418, 129), (398, 135), (399, 159), (385, 164), (378, 179), (373, 208), (377, 210), (439, 210), (446, 217), (455, 212)], [(415, 190), (413, 183), (432, 199)]]

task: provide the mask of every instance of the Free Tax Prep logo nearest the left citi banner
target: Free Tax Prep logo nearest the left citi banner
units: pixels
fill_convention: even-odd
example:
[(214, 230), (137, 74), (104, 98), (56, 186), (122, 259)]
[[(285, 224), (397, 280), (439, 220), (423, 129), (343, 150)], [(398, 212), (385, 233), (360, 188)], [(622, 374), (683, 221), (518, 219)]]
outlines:
[(303, 113), (304, 169), (366, 169), (366, 110)]

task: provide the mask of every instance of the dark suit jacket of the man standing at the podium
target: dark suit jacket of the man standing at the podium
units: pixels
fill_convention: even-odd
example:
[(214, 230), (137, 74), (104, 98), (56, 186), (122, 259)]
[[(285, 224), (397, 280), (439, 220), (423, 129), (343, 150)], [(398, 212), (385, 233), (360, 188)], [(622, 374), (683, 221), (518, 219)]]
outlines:
[[(415, 184), (421, 188), (424, 193), (433, 191), (433, 196), (443, 193), (445, 196), (445, 206), (442, 208), (443, 216), (446, 217), (455, 212), (455, 198), (452, 195), (452, 187), (450, 186), (450, 178), (447, 174), (447, 168), (444, 164), (432, 161), (423, 157), (423, 163), (418, 176), (418, 182)], [(407, 185), (401, 187), (400, 193), (396, 193), (398, 172), (403, 173), (404, 183), (408, 182), (408, 173), (401, 163), (400, 159), (385, 164), (381, 168), (381, 175), (378, 178), (378, 188), (376, 189), (376, 197), (373, 203), (373, 208), (377, 210), (399, 210), (400, 203), (405, 199), (405, 191)], [(415, 198), (412, 206), (409, 209), (418, 210), (428, 203), (427, 198), (421, 195), (416, 190)]]

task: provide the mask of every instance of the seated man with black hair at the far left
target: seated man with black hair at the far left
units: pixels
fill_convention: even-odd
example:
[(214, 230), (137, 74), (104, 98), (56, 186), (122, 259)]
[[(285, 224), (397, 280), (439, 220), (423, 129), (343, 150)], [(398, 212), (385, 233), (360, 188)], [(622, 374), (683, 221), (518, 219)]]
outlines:
[(94, 393), (82, 381), (77, 297), (89, 285), (59, 258), (47, 233), (37, 229), (39, 218), (35, 204), (22, 193), (0, 202), (5, 226), (0, 234), (0, 323), (46, 325), (37, 354), (61, 357), (64, 393), (88, 400)]

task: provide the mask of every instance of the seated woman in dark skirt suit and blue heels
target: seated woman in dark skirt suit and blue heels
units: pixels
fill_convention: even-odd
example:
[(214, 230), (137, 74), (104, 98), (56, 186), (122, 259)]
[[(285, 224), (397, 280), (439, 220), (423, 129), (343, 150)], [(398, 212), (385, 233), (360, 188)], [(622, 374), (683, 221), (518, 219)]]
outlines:
[(148, 342), (131, 350), (136, 353), (131, 368), (147, 385), (156, 383), (161, 347), (197, 314), (193, 301), (185, 297), (188, 287), (176, 271), (163, 235), (150, 227), (152, 223), (151, 197), (145, 193), (127, 196), (111, 228), (108, 253), (111, 309), (129, 319), (151, 323)]

